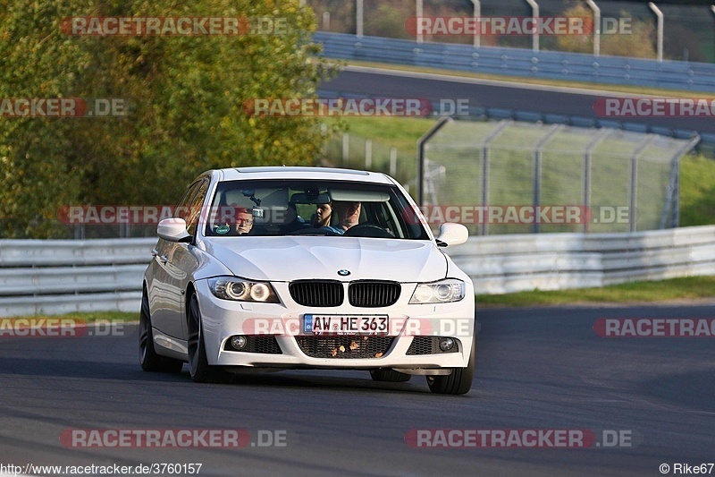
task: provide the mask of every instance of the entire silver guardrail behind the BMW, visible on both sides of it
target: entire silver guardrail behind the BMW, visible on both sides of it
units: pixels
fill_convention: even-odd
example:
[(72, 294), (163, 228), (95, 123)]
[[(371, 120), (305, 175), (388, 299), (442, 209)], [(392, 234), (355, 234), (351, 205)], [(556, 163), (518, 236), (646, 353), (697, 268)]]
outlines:
[[(137, 311), (156, 239), (0, 240), (0, 317)], [(445, 249), (478, 294), (715, 274), (715, 226), (472, 237)]]

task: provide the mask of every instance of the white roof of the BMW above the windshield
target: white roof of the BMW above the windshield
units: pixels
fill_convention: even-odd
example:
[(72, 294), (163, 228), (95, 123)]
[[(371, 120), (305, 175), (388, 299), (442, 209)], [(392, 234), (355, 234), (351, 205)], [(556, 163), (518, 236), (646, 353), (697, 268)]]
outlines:
[(233, 167), (220, 169), (222, 181), (259, 180), (259, 179), (315, 179), (325, 181), (343, 181), (356, 183), (393, 184), (390, 177), (383, 173), (341, 169), (337, 167)]

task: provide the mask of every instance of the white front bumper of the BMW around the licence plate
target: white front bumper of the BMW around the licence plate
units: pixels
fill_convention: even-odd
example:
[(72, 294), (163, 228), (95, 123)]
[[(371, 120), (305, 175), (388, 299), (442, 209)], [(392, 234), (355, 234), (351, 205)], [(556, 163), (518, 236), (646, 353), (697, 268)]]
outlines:
[[(467, 367), (475, 336), (475, 309), (471, 284), (460, 302), (441, 304), (408, 304), (416, 284), (403, 284), (400, 300), (384, 308), (357, 308), (345, 303), (340, 307), (311, 308), (301, 306), (290, 298), (288, 284), (273, 282), (281, 303), (233, 302), (214, 296), (206, 280), (196, 282), (199, 308), (203, 319), (204, 345), (209, 364), (248, 368), (315, 368), (315, 369), (442, 369)], [(388, 315), (391, 323), (388, 336), (390, 344), (383, 353), (364, 357), (353, 353), (350, 345), (359, 351), (372, 336), (314, 336), (301, 330), (307, 313), (320, 315)], [(274, 336), (280, 353), (248, 353), (229, 351), (231, 336)], [(305, 337), (301, 337), (305, 336)], [(414, 354), (410, 349), (416, 336), (442, 336), (455, 339), (456, 351)], [(425, 343), (425, 338), (421, 338)], [(299, 345), (303, 342), (303, 349)], [(308, 355), (306, 343), (315, 342)], [(384, 343), (384, 341), (382, 342)], [(343, 351), (340, 345), (345, 348)], [(334, 357), (325, 356), (321, 349), (333, 347)], [(227, 349), (228, 348), (228, 349)], [(408, 353), (409, 352), (409, 353)]]

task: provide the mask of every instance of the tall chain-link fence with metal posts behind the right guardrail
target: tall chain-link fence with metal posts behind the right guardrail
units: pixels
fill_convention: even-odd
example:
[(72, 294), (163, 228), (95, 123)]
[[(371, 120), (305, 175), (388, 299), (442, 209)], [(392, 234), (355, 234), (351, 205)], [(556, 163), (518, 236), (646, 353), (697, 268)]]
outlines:
[(434, 228), (472, 234), (628, 232), (678, 225), (679, 159), (697, 143), (565, 125), (446, 121), (417, 197)]

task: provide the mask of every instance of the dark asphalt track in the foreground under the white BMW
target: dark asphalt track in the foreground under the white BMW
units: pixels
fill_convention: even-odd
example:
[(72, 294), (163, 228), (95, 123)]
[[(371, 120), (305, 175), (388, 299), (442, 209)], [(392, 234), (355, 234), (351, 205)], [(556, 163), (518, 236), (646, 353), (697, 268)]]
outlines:
[[(4, 337), (0, 464), (200, 463), (199, 475), (226, 476), (660, 475), (660, 464), (715, 462), (715, 341), (603, 338), (593, 324), (712, 313), (712, 306), (479, 310), (477, 373), (466, 396), (433, 395), (418, 377), (375, 383), (365, 371), (285, 371), (198, 385), (186, 366), (179, 375), (141, 371), (135, 325), (114, 337)], [(72, 448), (60, 441), (63, 430), (227, 428), (248, 430), (254, 444), (260, 430), (285, 431), (285, 446)], [(431, 429), (593, 430), (597, 439), (617, 430), (633, 445), (406, 444), (410, 430)]]

